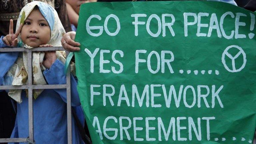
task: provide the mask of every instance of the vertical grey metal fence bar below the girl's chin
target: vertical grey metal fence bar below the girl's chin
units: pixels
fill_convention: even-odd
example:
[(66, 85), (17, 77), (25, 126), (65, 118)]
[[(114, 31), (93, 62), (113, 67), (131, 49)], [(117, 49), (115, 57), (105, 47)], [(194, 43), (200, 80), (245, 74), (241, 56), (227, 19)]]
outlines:
[(34, 114), (33, 114), (33, 89), (32, 86), (32, 52), (29, 50), (28, 55), (28, 125), (29, 125), (29, 141), (34, 143)]

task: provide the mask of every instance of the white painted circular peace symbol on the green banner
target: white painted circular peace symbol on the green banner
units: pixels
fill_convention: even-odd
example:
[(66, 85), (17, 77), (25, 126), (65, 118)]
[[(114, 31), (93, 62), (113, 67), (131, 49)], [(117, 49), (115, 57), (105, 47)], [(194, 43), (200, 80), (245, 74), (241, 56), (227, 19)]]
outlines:
[[(230, 48), (237, 48), (239, 50), (239, 52), (233, 57), (231, 54), (228, 53), (228, 50)], [(239, 69), (236, 69), (236, 67), (235, 67), (235, 59), (238, 58), (238, 56), (240, 56), (241, 54), (243, 55), (243, 65)], [(226, 64), (226, 61), (225, 61), (225, 56), (228, 56), (232, 60), (232, 70), (228, 68), (228, 66)], [(221, 60), (222, 60), (222, 63), (223, 63), (223, 65), (224, 65), (224, 67), (225, 67), (225, 69), (227, 71), (229, 71), (229, 72), (239, 72), (239, 71), (241, 71), (245, 67), (245, 64), (246, 64), (246, 54), (245, 54), (244, 50), (241, 47), (239, 47), (237, 45), (231, 45), (231, 46), (228, 46), (224, 50), (224, 52), (222, 53)]]

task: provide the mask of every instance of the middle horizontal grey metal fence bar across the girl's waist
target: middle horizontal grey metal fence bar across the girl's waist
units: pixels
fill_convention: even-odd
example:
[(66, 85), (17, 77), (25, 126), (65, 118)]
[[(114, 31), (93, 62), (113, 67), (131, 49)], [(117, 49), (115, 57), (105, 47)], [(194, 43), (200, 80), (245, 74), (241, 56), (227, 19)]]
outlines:
[(21, 86), (0, 86), (0, 90), (10, 90), (10, 89), (28, 89), (31, 87), (32, 89), (65, 89), (67, 86), (63, 85), (21, 85)]

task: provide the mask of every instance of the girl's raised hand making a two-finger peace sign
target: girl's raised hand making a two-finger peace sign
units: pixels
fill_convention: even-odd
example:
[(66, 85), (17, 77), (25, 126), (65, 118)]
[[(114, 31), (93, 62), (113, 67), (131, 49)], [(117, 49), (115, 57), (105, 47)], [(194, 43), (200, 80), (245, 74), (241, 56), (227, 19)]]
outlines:
[(18, 44), (18, 36), (21, 32), (21, 29), (22, 29), (22, 26), (23, 26), (23, 23), (20, 24), (18, 30), (16, 31), (16, 33), (14, 34), (13, 33), (13, 20), (11, 19), (10, 20), (10, 26), (9, 26), (9, 34), (6, 35), (4, 38), (3, 38), (3, 42), (8, 45), (8, 46), (11, 46), (11, 47), (16, 47), (17, 44)]

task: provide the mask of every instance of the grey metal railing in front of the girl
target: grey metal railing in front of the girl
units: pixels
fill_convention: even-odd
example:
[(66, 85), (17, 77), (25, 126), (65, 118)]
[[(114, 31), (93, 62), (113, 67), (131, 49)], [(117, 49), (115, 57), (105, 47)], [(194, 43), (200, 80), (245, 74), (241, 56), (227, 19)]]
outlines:
[[(66, 74), (66, 84), (62, 85), (33, 85), (32, 83), (32, 52), (34, 51), (56, 51), (64, 50), (63, 47), (42, 47), (42, 48), (0, 48), (0, 52), (27, 52), (28, 55), (28, 84), (21, 86), (0, 86), (0, 90), (10, 89), (27, 89), (28, 90), (28, 115), (29, 115), (29, 136), (28, 138), (4, 138), (0, 143), (6, 142), (27, 142), (34, 144), (34, 122), (33, 122), (33, 90), (34, 89), (67, 89), (67, 130), (68, 144), (72, 144), (72, 127), (71, 127), (71, 89), (70, 89), (70, 67)], [(66, 52), (66, 56), (69, 52)]]

